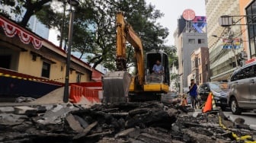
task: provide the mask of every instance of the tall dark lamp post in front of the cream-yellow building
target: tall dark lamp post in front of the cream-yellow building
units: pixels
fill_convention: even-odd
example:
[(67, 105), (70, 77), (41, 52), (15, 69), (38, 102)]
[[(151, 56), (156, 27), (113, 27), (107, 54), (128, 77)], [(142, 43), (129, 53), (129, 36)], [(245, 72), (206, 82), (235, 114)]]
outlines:
[(68, 0), (70, 5), (70, 20), (69, 20), (69, 46), (66, 59), (66, 76), (65, 76), (65, 87), (63, 102), (69, 102), (69, 71), (70, 71), (70, 57), (71, 57), (71, 45), (72, 45), (72, 34), (73, 34), (73, 22), (74, 22), (74, 11), (72, 11), (72, 6), (79, 5), (78, 0)]

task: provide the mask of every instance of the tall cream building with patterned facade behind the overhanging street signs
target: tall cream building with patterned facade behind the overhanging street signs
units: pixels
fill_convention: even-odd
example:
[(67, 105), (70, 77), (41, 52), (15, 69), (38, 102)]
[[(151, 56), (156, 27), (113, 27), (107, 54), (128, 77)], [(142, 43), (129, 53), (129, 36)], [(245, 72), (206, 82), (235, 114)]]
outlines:
[[(235, 70), (235, 56), (243, 51), (243, 45), (239, 49), (223, 49), (222, 40), (229, 37), (229, 27), (219, 25), (219, 17), (222, 15), (239, 15), (239, 0), (206, 0), (207, 39), (210, 53), (211, 81), (226, 81), (232, 71)], [(234, 17), (235, 24), (240, 24), (240, 17)], [(241, 38), (243, 31), (240, 26), (230, 27), (232, 38)], [(215, 37), (213, 37), (215, 35)], [(239, 64), (239, 62), (238, 62)]]

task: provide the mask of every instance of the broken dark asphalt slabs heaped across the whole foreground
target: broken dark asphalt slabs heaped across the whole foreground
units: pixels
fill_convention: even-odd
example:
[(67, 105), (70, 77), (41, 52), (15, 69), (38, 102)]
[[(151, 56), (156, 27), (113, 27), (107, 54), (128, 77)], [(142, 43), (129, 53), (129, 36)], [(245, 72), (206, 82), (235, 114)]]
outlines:
[(1, 111), (0, 142), (239, 142), (234, 134), (251, 135), (248, 140), (256, 135), (221, 111), (195, 114), (190, 107), (174, 109), (158, 102), (89, 109), (73, 104), (9, 106)]

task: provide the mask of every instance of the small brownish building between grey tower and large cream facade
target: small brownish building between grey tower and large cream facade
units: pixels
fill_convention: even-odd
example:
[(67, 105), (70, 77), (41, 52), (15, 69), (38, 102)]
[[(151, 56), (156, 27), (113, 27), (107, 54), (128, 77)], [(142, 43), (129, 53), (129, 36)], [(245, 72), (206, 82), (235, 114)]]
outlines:
[[(200, 47), (191, 53), (191, 75), (197, 85), (209, 81), (209, 52), (208, 47)], [(188, 81), (190, 79), (187, 79)]]

